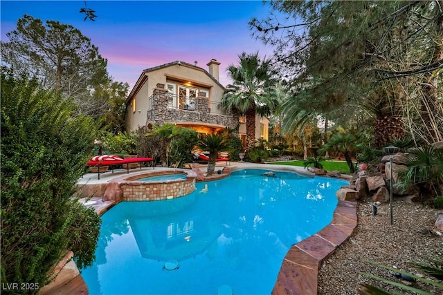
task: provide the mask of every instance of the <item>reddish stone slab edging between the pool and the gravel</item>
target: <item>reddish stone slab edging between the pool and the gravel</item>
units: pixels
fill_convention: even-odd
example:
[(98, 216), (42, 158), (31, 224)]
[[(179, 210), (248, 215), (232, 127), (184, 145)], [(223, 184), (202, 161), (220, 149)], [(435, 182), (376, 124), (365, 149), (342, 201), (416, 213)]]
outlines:
[(272, 294), (317, 294), (320, 263), (352, 235), (356, 225), (356, 202), (338, 201), (334, 218), (327, 227), (289, 249)]

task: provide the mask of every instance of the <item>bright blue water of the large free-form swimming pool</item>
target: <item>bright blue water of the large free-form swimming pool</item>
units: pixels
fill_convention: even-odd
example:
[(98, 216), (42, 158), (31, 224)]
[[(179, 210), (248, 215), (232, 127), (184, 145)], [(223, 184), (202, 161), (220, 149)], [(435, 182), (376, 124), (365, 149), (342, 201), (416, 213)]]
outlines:
[(271, 294), (290, 247), (328, 225), (343, 180), (234, 171), (174, 200), (102, 216), (90, 294)]

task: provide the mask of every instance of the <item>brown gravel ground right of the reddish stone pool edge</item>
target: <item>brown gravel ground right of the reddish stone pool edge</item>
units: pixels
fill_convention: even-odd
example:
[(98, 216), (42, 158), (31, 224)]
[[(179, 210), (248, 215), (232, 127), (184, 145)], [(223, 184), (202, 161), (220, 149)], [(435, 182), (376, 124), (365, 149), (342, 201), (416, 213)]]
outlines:
[[(414, 269), (410, 262), (437, 254), (441, 257), (443, 254), (443, 236), (435, 227), (438, 214), (443, 213), (441, 209), (395, 198), (392, 205), (393, 225), (390, 225), (389, 204), (378, 204), (375, 216), (370, 214), (370, 204), (372, 202), (368, 199), (359, 201), (354, 234), (320, 265), (318, 294), (359, 294), (357, 288), (363, 283), (380, 287), (391, 294), (395, 291), (412, 294), (363, 276), (361, 273), (368, 273), (411, 285), (395, 278), (394, 272), (370, 265), (368, 260), (420, 276), (422, 273)], [(433, 294), (442, 294), (441, 289), (419, 281), (412, 285)]]

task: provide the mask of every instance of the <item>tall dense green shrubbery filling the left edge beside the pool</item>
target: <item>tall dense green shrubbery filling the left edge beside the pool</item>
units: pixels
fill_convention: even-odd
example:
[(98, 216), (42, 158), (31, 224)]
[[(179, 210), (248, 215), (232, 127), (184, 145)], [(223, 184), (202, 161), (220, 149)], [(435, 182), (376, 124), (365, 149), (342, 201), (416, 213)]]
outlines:
[[(1, 283), (48, 283), (72, 249), (93, 262), (100, 218), (73, 199), (96, 129), (36, 79), (1, 71)], [(11, 290), (9, 290), (11, 291)], [(37, 292), (37, 291), (35, 291)]]

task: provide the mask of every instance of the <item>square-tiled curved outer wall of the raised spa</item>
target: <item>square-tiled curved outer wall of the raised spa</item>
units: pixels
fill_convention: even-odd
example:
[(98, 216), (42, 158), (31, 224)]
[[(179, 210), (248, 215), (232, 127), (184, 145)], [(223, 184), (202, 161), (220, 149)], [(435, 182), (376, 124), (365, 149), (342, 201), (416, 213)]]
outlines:
[(195, 190), (195, 178), (174, 182), (130, 182), (121, 183), (125, 201), (167, 200), (188, 195)]

